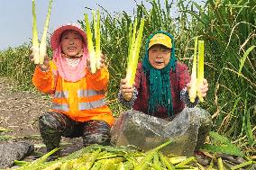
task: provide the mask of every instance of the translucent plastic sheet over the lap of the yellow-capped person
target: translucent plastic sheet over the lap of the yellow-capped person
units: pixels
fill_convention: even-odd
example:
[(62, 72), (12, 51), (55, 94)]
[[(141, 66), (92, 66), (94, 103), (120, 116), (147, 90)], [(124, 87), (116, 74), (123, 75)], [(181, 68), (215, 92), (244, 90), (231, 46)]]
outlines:
[(163, 154), (191, 156), (197, 144), (204, 143), (211, 126), (210, 115), (199, 108), (185, 108), (172, 121), (129, 110), (115, 121), (112, 143), (134, 145), (147, 151), (170, 139), (172, 143), (162, 148)]

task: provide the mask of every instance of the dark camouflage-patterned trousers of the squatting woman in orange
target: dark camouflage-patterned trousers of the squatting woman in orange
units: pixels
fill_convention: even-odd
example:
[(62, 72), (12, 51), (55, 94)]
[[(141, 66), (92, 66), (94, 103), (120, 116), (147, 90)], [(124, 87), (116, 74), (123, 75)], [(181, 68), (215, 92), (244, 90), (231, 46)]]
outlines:
[(82, 137), (85, 147), (110, 144), (110, 126), (105, 121), (78, 122), (59, 112), (46, 112), (39, 118), (39, 128), (47, 151), (59, 148), (61, 137)]

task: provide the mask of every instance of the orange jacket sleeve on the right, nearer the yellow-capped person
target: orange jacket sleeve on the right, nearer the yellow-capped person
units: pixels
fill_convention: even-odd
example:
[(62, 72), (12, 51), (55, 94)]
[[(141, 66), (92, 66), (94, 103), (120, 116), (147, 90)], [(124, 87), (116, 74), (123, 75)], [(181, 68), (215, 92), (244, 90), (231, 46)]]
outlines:
[(87, 85), (97, 91), (106, 90), (109, 81), (107, 67), (99, 69), (95, 74), (87, 70)]

